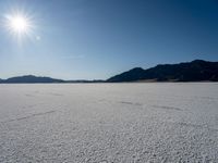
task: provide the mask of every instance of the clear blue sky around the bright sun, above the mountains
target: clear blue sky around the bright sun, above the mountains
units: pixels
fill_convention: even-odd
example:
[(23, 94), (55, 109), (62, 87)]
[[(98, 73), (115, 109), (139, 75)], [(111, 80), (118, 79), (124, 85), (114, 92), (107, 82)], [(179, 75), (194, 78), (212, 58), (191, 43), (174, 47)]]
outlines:
[[(33, 28), (17, 39), (5, 17)], [(0, 78), (106, 79), (135, 66), (218, 61), (217, 0), (0, 0)]]

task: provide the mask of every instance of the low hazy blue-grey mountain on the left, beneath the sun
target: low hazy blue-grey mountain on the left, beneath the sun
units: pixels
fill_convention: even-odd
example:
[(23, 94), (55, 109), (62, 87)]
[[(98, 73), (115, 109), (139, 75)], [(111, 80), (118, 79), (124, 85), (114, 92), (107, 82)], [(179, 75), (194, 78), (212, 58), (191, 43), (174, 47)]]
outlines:
[(26, 76), (17, 76), (17, 77), (11, 77), (4, 80), (0, 80), (0, 83), (4, 84), (20, 84), (20, 83), (63, 83), (62, 79), (55, 79), (50, 77), (38, 77), (34, 75), (26, 75)]

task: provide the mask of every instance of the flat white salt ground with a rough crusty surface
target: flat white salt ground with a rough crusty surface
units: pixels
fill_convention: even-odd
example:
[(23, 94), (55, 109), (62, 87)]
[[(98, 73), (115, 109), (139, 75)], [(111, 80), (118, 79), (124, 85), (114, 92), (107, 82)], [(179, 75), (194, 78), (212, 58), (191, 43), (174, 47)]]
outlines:
[(0, 85), (0, 162), (218, 162), (218, 84)]

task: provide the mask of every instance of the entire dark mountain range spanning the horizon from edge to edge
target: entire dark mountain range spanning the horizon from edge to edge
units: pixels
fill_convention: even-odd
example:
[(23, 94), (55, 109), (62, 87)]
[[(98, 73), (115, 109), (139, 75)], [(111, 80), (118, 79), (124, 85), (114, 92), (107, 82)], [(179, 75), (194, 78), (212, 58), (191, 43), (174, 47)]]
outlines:
[(179, 64), (158, 64), (147, 70), (135, 67), (106, 80), (63, 80), (34, 75), (0, 79), (0, 84), (123, 82), (218, 82), (218, 62), (194, 60)]

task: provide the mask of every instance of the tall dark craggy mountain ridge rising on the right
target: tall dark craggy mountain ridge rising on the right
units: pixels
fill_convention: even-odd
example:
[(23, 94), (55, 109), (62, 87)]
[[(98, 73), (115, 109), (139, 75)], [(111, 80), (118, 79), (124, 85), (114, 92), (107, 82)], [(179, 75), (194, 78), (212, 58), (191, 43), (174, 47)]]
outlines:
[(109, 83), (141, 80), (218, 82), (218, 62), (194, 60), (192, 62), (179, 64), (159, 64), (148, 70), (135, 67), (107, 79)]

